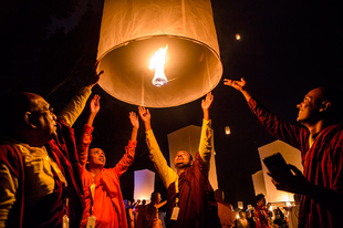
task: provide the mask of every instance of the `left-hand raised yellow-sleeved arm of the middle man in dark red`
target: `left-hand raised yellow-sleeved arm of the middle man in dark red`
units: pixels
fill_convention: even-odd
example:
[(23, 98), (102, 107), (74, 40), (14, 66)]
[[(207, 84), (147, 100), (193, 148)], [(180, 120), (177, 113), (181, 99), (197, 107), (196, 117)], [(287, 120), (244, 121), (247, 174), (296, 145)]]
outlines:
[(175, 182), (175, 179), (178, 178), (175, 170), (173, 170), (168, 164), (166, 158), (163, 156), (160, 148), (157, 144), (157, 141), (155, 138), (155, 135), (150, 125), (150, 113), (148, 108), (145, 108), (143, 106), (138, 106), (139, 116), (145, 125), (145, 134), (146, 134), (146, 144), (150, 153), (150, 159), (154, 163), (154, 166), (162, 178), (164, 185), (166, 188), (169, 187), (172, 183)]

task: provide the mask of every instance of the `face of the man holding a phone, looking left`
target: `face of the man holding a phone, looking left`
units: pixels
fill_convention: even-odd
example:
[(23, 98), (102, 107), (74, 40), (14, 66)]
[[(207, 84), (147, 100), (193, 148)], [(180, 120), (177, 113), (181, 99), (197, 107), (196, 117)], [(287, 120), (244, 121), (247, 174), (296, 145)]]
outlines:
[(301, 124), (315, 123), (319, 120), (319, 110), (322, 103), (321, 89), (314, 89), (310, 91), (303, 99), (303, 101), (297, 105), (299, 108), (297, 122)]

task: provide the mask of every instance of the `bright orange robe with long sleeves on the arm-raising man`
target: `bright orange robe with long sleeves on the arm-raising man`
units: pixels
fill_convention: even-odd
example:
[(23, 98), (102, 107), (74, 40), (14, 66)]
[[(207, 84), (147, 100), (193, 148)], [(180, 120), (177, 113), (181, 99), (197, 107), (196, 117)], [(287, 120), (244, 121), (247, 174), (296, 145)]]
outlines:
[(85, 227), (91, 209), (91, 188), (95, 183), (95, 194), (92, 214), (96, 217), (96, 228), (127, 228), (125, 206), (121, 190), (119, 177), (134, 162), (137, 142), (128, 142), (125, 154), (114, 168), (103, 168), (98, 176), (93, 178), (93, 174), (86, 169), (89, 146), (92, 142), (93, 127), (87, 125), (83, 128), (82, 143), (79, 146), (79, 157), (81, 165), (81, 179), (84, 190), (85, 209), (81, 221), (81, 227)]

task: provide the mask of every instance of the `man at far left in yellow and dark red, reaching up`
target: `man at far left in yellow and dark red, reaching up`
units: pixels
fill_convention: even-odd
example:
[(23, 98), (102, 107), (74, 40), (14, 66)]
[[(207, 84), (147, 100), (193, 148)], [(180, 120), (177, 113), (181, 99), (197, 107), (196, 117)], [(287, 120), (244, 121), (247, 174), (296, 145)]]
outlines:
[(60, 228), (69, 219), (70, 227), (80, 225), (83, 198), (72, 125), (102, 73), (94, 73), (58, 116), (34, 93), (3, 100), (0, 227)]

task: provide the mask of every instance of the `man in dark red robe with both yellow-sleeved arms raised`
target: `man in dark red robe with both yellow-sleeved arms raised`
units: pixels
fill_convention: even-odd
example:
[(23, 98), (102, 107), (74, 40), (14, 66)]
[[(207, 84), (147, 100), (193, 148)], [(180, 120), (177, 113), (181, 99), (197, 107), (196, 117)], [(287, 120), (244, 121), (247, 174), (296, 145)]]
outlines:
[(208, 182), (209, 159), (211, 153), (211, 121), (209, 107), (214, 101), (211, 93), (201, 102), (204, 121), (199, 151), (195, 159), (186, 151), (177, 152), (173, 170), (163, 156), (150, 125), (150, 113), (139, 106), (139, 115), (146, 131), (146, 143), (150, 159), (159, 174), (167, 196), (167, 227), (169, 228), (207, 228), (221, 227), (218, 218), (214, 189)]

